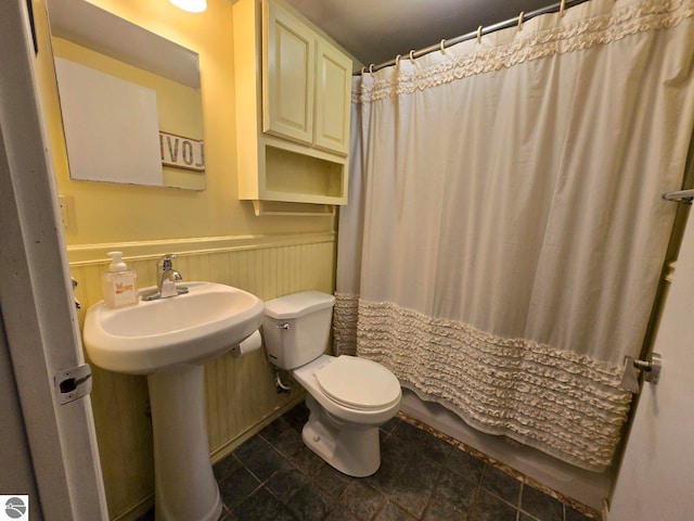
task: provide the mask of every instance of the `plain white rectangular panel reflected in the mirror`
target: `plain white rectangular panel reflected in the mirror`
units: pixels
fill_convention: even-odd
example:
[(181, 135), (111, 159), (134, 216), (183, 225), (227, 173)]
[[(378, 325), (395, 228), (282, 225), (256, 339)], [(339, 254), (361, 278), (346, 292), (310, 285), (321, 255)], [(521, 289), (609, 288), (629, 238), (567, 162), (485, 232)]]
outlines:
[(73, 179), (164, 186), (156, 92), (55, 58)]

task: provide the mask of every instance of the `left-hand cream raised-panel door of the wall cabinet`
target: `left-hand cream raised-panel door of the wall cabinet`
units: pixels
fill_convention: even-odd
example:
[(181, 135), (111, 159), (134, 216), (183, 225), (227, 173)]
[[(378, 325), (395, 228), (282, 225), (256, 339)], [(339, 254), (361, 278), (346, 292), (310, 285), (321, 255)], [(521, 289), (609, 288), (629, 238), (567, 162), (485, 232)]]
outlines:
[(264, 7), (262, 130), (311, 144), (316, 36), (275, 3)]

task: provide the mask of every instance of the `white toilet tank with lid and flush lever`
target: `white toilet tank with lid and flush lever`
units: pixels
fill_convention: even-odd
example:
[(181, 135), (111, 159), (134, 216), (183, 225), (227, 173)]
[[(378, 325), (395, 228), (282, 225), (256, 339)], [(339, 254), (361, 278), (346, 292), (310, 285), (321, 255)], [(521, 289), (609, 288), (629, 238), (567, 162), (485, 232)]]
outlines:
[(262, 336), (268, 358), (282, 369), (314, 360), (327, 348), (335, 297), (305, 291), (265, 303)]

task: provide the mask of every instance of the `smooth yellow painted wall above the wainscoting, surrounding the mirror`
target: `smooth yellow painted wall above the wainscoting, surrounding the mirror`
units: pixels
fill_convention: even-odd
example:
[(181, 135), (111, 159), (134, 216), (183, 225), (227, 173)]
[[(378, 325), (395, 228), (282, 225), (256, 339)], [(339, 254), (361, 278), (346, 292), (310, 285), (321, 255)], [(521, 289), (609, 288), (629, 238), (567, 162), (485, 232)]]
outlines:
[[(44, 2), (35, 0), (37, 18), (43, 14)], [(331, 217), (256, 217), (250, 203), (236, 198), (232, 2), (209, 0), (207, 11), (198, 14), (185, 13), (165, 0), (91, 3), (200, 54), (207, 189), (191, 192), (70, 180), (52, 61), (41, 62), (57, 187), (62, 195), (75, 198), (77, 232), (67, 233), (68, 245), (334, 229)], [(44, 25), (40, 20), (37, 24), (39, 30)], [(40, 48), (48, 49), (50, 42), (41, 39)]]

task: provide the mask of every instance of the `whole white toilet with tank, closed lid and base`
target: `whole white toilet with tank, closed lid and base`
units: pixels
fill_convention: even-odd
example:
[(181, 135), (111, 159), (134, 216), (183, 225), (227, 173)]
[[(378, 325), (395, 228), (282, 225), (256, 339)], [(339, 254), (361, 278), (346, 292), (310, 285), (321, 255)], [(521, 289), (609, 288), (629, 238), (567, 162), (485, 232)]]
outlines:
[(270, 361), (308, 393), (304, 443), (340, 472), (363, 478), (381, 466), (378, 428), (398, 412), (402, 392), (375, 361), (324, 354), (334, 304), (318, 291), (268, 301), (262, 334)]

